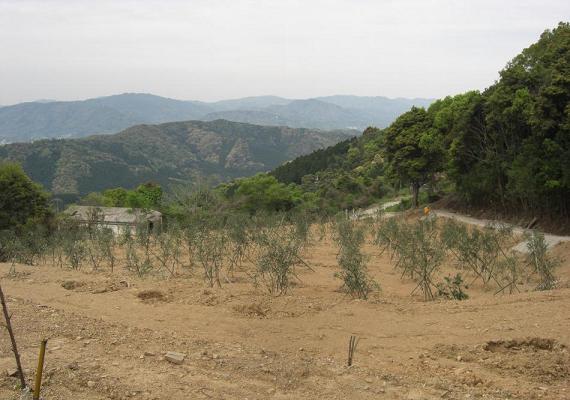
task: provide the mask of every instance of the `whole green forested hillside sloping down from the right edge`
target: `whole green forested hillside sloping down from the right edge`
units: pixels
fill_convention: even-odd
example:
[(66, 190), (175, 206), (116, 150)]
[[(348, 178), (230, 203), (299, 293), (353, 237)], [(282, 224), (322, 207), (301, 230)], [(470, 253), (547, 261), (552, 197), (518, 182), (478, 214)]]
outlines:
[(417, 199), (423, 185), (447, 184), (465, 204), (568, 217), (570, 25), (545, 31), (483, 92), (412, 108), (272, 175), (340, 208), (407, 186)]

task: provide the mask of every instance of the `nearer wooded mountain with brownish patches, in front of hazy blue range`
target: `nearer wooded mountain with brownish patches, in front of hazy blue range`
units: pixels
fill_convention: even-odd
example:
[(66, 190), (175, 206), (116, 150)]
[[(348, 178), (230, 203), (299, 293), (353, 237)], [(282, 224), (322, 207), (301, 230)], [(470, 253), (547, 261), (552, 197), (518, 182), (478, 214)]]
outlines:
[(0, 161), (22, 164), (56, 195), (84, 195), (154, 181), (223, 181), (271, 170), (352, 136), (226, 120), (137, 125), (114, 135), (0, 146)]

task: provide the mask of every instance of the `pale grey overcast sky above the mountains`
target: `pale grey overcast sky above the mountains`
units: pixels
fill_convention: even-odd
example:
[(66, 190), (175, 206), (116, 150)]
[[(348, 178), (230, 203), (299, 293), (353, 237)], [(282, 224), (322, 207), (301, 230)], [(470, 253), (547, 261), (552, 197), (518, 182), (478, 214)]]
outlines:
[(0, 0), (0, 104), (483, 89), (568, 0)]

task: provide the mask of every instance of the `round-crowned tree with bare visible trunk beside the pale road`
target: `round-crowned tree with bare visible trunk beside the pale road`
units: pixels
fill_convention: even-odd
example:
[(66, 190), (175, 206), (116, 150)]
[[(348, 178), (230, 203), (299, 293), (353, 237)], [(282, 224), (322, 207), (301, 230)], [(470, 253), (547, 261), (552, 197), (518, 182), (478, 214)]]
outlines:
[(393, 180), (409, 184), (412, 204), (418, 206), (419, 189), (441, 169), (441, 138), (426, 110), (412, 107), (384, 131), (383, 155)]

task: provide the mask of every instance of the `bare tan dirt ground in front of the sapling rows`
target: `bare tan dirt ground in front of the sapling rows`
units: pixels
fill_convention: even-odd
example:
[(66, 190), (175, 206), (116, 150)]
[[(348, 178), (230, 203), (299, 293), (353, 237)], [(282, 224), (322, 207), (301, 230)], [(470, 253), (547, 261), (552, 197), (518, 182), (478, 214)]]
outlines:
[[(367, 246), (381, 293), (340, 292), (336, 248), (307, 251), (289, 294), (271, 297), (245, 274), (221, 289), (193, 278), (18, 266), (0, 276), (33, 378), (49, 338), (45, 399), (568, 399), (570, 243), (559, 289), (423, 302), (389, 257)], [(530, 286), (529, 286), (530, 288)], [(350, 335), (360, 339), (346, 366)], [(186, 354), (180, 365), (164, 353)], [(0, 335), (0, 398), (18, 399), (8, 335)]]

